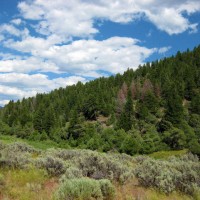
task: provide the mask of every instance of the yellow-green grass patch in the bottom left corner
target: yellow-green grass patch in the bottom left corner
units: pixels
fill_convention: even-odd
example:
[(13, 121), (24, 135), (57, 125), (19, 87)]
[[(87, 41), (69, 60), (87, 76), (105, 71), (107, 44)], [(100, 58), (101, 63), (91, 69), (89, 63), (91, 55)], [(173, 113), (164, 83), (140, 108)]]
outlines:
[[(2, 199), (15, 200), (50, 200), (48, 188), (49, 181), (44, 170), (31, 168), (29, 170), (0, 169), (4, 176), (5, 185), (0, 189)], [(53, 192), (53, 190), (51, 191)], [(1, 197), (0, 197), (1, 199)]]

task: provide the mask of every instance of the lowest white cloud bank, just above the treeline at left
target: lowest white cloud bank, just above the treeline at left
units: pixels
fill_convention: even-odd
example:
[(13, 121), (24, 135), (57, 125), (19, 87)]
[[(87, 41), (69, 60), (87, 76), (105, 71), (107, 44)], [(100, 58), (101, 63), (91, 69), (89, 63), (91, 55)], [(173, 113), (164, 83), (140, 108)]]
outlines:
[[(0, 74), (0, 94), (9, 99), (22, 99), (23, 97), (35, 96), (37, 93), (49, 92), (59, 87), (73, 85), (78, 81), (86, 82), (80, 76), (48, 79), (44, 74), (6, 73)], [(0, 100), (0, 105), (8, 100)]]

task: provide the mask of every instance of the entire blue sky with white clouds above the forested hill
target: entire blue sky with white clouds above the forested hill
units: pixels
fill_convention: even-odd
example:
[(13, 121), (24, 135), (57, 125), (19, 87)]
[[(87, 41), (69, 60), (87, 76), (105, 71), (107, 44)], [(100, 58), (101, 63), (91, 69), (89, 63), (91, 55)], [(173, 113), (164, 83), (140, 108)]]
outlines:
[(0, 0), (0, 106), (200, 45), (200, 0)]

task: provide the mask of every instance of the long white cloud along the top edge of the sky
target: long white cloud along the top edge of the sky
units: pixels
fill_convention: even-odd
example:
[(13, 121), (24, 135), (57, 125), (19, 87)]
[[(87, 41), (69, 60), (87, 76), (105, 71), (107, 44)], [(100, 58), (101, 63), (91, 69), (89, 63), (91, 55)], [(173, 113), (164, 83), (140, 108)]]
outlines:
[(191, 27), (184, 12), (200, 11), (199, 0), (34, 0), (18, 5), (26, 19), (38, 20), (37, 31), (62, 36), (85, 37), (95, 34), (95, 19), (128, 23), (146, 16), (160, 30), (178, 34)]

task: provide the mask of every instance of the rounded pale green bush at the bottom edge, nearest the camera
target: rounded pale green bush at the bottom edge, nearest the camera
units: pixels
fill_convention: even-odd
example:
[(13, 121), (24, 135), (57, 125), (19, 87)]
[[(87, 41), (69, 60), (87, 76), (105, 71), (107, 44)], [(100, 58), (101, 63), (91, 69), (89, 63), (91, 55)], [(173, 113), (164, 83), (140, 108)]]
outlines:
[(55, 193), (57, 200), (112, 200), (114, 199), (114, 187), (108, 180), (93, 180), (89, 178), (68, 179), (61, 184)]

